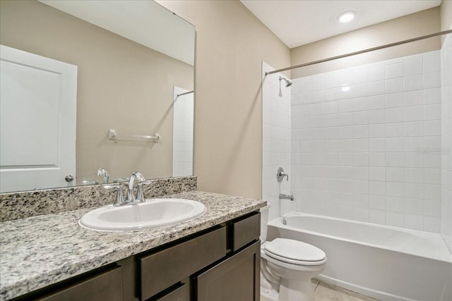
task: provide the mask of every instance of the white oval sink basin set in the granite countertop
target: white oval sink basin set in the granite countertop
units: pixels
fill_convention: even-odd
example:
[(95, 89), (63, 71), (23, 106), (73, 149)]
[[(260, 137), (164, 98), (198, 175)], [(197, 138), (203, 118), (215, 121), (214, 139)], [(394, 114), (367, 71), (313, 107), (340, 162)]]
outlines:
[(174, 225), (201, 216), (206, 206), (191, 199), (146, 199), (146, 202), (97, 208), (78, 224), (96, 231), (131, 231)]

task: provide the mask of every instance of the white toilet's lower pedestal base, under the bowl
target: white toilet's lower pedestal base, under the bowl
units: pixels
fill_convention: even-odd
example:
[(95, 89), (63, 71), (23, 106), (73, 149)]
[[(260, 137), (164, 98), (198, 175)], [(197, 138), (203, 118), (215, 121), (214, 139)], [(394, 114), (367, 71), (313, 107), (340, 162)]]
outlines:
[(311, 301), (311, 278), (306, 280), (281, 279), (278, 301)]

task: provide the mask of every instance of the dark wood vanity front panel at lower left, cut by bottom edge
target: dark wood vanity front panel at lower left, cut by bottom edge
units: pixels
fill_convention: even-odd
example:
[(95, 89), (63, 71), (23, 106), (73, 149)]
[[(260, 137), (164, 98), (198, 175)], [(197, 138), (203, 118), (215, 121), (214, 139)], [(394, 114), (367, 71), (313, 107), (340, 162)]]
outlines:
[(121, 301), (121, 268), (105, 271), (56, 293), (37, 298), (40, 301)]

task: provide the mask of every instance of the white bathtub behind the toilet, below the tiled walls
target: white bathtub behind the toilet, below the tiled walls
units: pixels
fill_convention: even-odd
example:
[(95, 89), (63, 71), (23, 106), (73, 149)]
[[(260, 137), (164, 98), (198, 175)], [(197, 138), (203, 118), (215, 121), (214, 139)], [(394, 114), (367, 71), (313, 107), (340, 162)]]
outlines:
[(439, 234), (295, 212), (283, 219), (268, 223), (267, 240), (320, 247), (321, 281), (380, 300), (452, 300), (452, 255)]

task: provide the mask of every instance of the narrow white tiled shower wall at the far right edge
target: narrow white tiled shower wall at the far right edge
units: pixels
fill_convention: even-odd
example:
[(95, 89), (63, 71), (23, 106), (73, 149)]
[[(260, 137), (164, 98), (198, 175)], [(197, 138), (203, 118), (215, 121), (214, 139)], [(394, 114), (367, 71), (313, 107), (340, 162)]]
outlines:
[(452, 252), (452, 37), (441, 48), (441, 236)]

